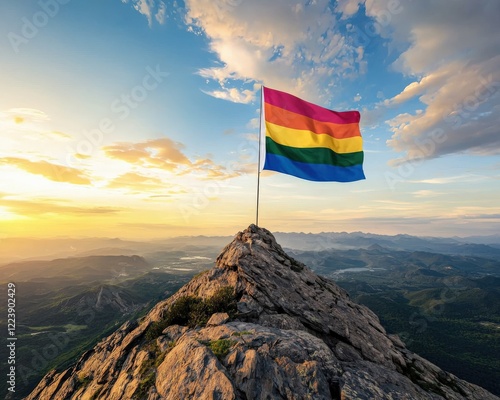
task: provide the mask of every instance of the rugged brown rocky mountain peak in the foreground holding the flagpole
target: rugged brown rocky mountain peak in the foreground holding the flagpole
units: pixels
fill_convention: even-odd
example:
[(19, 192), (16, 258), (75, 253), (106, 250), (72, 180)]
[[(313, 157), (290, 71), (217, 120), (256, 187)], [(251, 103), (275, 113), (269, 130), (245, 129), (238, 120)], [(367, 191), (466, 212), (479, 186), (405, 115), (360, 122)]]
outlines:
[(29, 400), (498, 399), (388, 335), (334, 282), (250, 225), (215, 266)]

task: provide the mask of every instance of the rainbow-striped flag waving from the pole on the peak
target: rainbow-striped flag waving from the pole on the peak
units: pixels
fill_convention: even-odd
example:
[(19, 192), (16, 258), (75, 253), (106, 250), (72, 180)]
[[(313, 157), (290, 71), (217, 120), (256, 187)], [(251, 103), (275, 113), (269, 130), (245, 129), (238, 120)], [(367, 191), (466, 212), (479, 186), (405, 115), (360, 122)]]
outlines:
[(262, 87), (261, 113), (261, 171), (318, 182), (365, 179), (358, 111), (332, 111)]

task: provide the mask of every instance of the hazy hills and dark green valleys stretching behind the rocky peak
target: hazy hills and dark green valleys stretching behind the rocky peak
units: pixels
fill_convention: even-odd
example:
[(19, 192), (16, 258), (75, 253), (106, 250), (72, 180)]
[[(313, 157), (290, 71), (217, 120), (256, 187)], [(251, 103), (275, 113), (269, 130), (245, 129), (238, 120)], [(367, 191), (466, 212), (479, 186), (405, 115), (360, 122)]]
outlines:
[[(410, 350), (500, 393), (495, 379), (500, 369), (500, 238), (473, 242), (361, 232), (275, 236), (288, 254), (376, 311), (389, 333), (401, 334)], [(143, 315), (211, 268), (231, 240), (0, 240), (0, 283), (17, 286), (17, 355), (31, 371), (22, 378), (24, 393), (49, 368), (69, 366), (123, 321)], [(6, 304), (0, 304), (0, 316), (6, 315)], [(5, 324), (0, 317), (0, 328), (5, 330)], [(65, 348), (40, 364), (33, 352), (47, 349), (50, 338), (60, 334), (69, 338)], [(4, 352), (1, 348), (3, 360)]]

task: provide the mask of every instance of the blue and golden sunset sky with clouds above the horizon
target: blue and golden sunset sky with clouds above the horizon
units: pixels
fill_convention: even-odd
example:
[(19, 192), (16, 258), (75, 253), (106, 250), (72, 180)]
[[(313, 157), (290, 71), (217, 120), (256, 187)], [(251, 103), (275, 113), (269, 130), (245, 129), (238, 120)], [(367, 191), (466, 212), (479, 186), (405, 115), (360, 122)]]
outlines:
[(271, 231), (498, 234), (498, 0), (3, 0), (0, 237), (255, 222), (265, 85), (359, 110), (366, 180), (264, 171)]

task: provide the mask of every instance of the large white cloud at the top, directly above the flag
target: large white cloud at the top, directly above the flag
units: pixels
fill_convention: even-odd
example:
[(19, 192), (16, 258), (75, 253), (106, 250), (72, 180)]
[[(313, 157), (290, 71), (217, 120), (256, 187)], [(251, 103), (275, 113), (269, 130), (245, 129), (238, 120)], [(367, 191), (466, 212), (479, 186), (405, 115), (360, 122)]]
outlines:
[(339, 33), (328, 0), (187, 0), (186, 9), (186, 23), (206, 35), (220, 63), (199, 71), (219, 86), (206, 90), (215, 97), (253, 101), (244, 90), (255, 93), (259, 82), (325, 103), (341, 77), (366, 67), (363, 50)]

